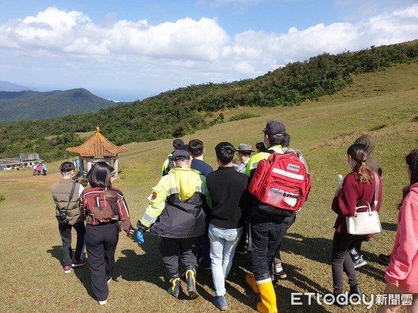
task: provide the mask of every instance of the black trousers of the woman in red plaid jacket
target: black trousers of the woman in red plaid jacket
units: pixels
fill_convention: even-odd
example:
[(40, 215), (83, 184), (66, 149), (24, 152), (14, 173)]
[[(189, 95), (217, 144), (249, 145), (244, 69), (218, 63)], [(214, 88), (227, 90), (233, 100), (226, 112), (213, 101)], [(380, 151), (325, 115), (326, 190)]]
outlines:
[(86, 225), (86, 250), (90, 266), (91, 287), (99, 301), (109, 295), (107, 280), (115, 266), (115, 251), (119, 240), (119, 229), (114, 223)]

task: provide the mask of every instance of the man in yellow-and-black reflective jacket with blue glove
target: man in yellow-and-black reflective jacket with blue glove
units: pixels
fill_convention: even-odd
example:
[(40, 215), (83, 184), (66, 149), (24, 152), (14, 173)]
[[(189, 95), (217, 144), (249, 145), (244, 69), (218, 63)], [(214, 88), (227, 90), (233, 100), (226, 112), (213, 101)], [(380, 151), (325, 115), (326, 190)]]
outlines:
[(196, 291), (196, 253), (199, 236), (205, 232), (208, 213), (206, 178), (190, 168), (190, 154), (186, 150), (173, 152), (175, 167), (163, 176), (149, 196), (144, 216), (138, 220), (138, 243), (144, 243), (143, 233), (150, 228), (151, 234), (160, 237), (162, 262), (169, 273), (169, 294), (180, 294), (181, 257), (189, 297), (199, 296)]

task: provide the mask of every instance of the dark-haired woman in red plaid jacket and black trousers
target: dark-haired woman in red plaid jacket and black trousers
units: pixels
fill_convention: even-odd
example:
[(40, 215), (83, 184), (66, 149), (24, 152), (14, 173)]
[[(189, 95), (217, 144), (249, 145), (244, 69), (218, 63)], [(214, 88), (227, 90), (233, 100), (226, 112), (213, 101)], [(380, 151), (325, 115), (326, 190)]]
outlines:
[(80, 195), (80, 210), (86, 219), (86, 250), (91, 273), (91, 286), (100, 305), (107, 303), (111, 273), (119, 232), (134, 234), (122, 191), (111, 186), (114, 168), (106, 162), (95, 163), (88, 172), (91, 188)]

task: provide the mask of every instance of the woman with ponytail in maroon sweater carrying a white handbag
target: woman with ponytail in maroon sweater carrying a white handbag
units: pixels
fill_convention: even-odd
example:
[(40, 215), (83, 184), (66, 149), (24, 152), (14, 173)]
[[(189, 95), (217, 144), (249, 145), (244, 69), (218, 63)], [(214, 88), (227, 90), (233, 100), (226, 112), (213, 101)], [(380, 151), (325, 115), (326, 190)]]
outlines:
[[(334, 240), (332, 242), (332, 280), (334, 286), (334, 296), (336, 297), (336, 305), (341, 304), (341, 294), (343, 294), (343, 272), (348, 276), (351, 295), (361, 296), (359, 282), (355, 273), (353, 260), (349, 255), (349, 251), (360, 240), (367, 238), (366, 236), (355, 236), (348, 234), (346, 226), (346, 216), (354, 216), (355, 207), (359, 200), (367, 201), (373, 204), (375, 194), (375, 175), (373, 171), (366, 166), (367, 148), (361, 143), (350, 145), (347, 150), (347, 163), (352, 169), (351, 172), (344, 177), (343, 186), (337, 189), (334, 200), (332, 201), (332, 211), (338, 216), (335, 221)], [(376, 175), (380, 181), (378, 192), (378, 204), (376, 210), (380, 210), (382, 202), (382, 182), (380, 176)], [(369, 235), (371, 236), (371, 235)]]

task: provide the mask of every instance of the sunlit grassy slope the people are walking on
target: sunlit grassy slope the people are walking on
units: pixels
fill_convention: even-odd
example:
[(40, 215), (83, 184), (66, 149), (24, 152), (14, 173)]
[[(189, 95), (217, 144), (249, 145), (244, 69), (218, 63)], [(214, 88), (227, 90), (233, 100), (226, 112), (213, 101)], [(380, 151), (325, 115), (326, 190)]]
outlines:
[[(392, 249), (396, 204), (401, 200), (401, 188), (408, 184), (404, 156), (418, 145), (418, 64), (356, 77), (353, 86), (341, 93), (300, 106), (227, 111), (225, 120), (241, 113), (260, 117), (225, 122), (183, 139), (200, 138), (206, 146), (205, 161), (216, 168), (217, 143), (254, 147), (263, 138), (265, 123), (279, 120), (291, 134), (291, 147), (302, 150), (313, 184), (309, 200), (282, 244), (288, 279), (275, 287), (279, 311), (339, 312), (315, 301), (308, 305), (307, 298), (302, 298), (304, 305), (292, 306), (291, 293), (332, 291), (330, 255), (336, 215), (330, 206), (337, 175), (349, 171), (347, 147), (362, 134), (371, 134), (378, 143), (376, 154), (383, 168), (383, 232), (364, 243), (362, 253), (368, 264), (357, 275), (368, 298), (382, 294), (385, 266), (378, 263), (378, 255)], [(115, 186), (125, 193), (133, 225), (144, 213), (150, 188), (157, 183), (162, 162), (171, 152), (171, 141), (131, 143), (125, 145), (130, 152), (119, 156), (121, 172)], [(61, 238), (49, 195), (50, 185), (59, 179), (60, 163), (49, 163), (46, 177), (32, 177), (29, 169), (0, 172), (0, 195), (5, 198), (0, 202), (0, 312), (219, 311), (211, 303), (211, 274), (202, 267), (197, 275), (200, 298), (175, 299), (167, 294), (159, 240), (149, 233), (141, 246), (121, 234), (107, 305), (98, 305), (92, 294), (88, 266), (64, 274)], [(249, 257), (237, 255), (226, 282), (231, 312), (254, 312), (259, 300), (245, 283), (248, 268)], [(352, 305), (346, 312), (369, 310), (365, 305)]]

